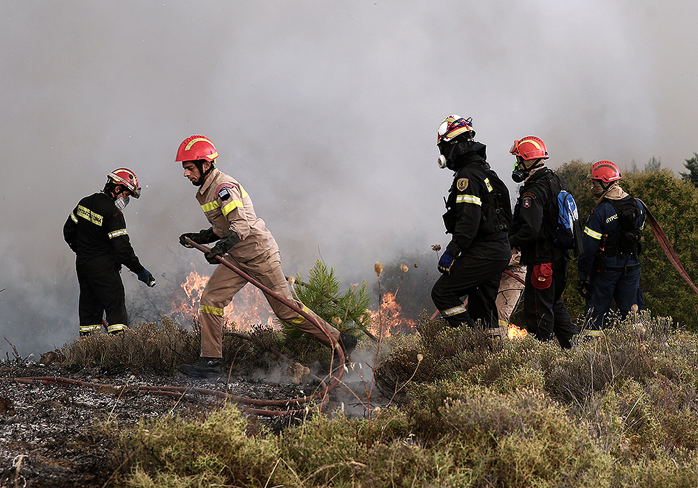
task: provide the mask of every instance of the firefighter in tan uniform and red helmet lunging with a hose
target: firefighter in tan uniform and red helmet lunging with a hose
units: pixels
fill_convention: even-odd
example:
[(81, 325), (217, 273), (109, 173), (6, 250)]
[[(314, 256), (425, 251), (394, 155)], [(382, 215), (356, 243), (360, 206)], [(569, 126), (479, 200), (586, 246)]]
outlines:
[[(195, 365), (181, 365), (178, 369), (188, 376), (207, 377), (221, 373), (223, 349), (221, 335), (223, 332), (223, 309), (247, 284), (247, 281), (230, 268), (220, 265), (216, 256), (225, 255), (237, 268), (254, 277), (267, 288), (286, 300), (301, 307), (325, 327), (336, 339), (346, 353), (351, 353), (357, 337), (340, 333), (315, 315), (305, 305), (291, 296), (286, 282), (279, 246), (272, 234), (265, 227), (262, 219), (257, 218), (255, 209), (247, 192), (235, 178), (219, 171), (216, 166), (218, 152), (214, 144), (202, 135), (193, 135), (184, 139), (177, 151), (177, 161), (184, 167), (184, 176), (200, 187), (196, 199), (201, 205), (209, 229), (182, 234), (179, 242), (185, 247), (186, 238), (199, 244), (216, 242), (210, 252), (205, 254), (207, 261), (217, 264), (202, 293), (199, 316), (201, 323), (201, 358)], [(281, 321), (304, 330), (318, 341), (331, 347), (327, 335), (308, 319), (265, 293), (274, 314)]]

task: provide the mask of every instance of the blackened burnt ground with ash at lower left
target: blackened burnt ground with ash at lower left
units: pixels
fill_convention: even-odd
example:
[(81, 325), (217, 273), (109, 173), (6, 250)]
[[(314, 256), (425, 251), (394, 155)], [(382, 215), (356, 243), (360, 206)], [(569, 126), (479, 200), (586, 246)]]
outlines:
[[(60, 376), (110, 387), (55, 386), (20, 383), (17, 378)], [(361, 396), (364, 385), (350, 381), (331, 394), (325, 412), (346, 409), (357, 416), (363, 407), (348, 390)], [(105, 370), (100, 367), (63, 369), (20, 360), (0, 362), (0, 488), (5, 487), (109, 487), (124, 473), (115, 450), (117, 431), (128, 429), (141, 418), (161, 415), (191, 418), (218, 409), (221, 399), (200, 393), (163, 396), (138, 390), (138, 386), (184, 386), (209, 388), (258, 399), (289, 399), (310, 395), (317, 381), (295, 384), (242, 376), (230, 381), (191, 380), (184, 375), (147, 371)], [(118, 388), (128, 386), (130, 388)], [(380, 404), (380, 399), (376, 398)], [(372, 403), (375, 400), (372, 400)], [(289, 415), (250, 415), (253, 423), (279, 432), (299, 422)], [(108, 426), (108, 427), (105, 427)]]

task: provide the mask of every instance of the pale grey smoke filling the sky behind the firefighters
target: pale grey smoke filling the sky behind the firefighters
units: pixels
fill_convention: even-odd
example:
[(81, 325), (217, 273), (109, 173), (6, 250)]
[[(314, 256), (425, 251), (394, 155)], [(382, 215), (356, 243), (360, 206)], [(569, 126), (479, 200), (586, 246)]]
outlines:
[(512, 195), (526, 135), (552, 167), (655, 157), (678, 175), (698, 151), (697, 14), (689, 0), (1, 0), (0, 353), (73, 340), (62, 227), (117, 167), (138, 174), (124, 214), (160, 282), (124, 270), (129, 300), (161, 310), (168, 277), (210, 273), (177, 243), (209, 227), (174, 162), (189, 135), (216, 144), (287, 275), (322, 259), (344, 282), (447, 244), (449, 114), (473, 118)]

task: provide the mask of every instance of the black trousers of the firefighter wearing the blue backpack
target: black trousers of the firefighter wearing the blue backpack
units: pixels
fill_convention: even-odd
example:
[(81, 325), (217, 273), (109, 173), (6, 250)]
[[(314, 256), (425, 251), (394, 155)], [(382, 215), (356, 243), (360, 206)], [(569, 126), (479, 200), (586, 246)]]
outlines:
[[(526, 329), (540, 341), (549, 341), (555, 335), (563, 349), (570, 349), (570, 340), (577, 334), (570, 312), (562, 299), (567, 285), (567, 259), (560, 257), (552, 261), (553, 277), (546, 289), (537, 289), (531, 284), (534, 266), (526, 269), (526, 289), (523, 291), (523, 315)], [(534, 324), (534, 325), (532, 325)]]

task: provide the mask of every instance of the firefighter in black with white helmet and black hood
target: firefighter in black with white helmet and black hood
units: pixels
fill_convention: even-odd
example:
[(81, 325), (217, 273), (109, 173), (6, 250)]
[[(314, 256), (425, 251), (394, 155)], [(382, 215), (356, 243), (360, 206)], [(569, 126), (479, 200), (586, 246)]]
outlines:
[[(475, 142), (472, 119), (450, 115), (438, 129), (439, 167), (455, 171), (443, 215), (451, 242), (438, 262), (443, 273), (431, 299), (452, 327), (480, 326), (499, 335), (497, 292), (512, 257), (509, 190)], [(468, 296), (467, 305), (463, 296)]]

